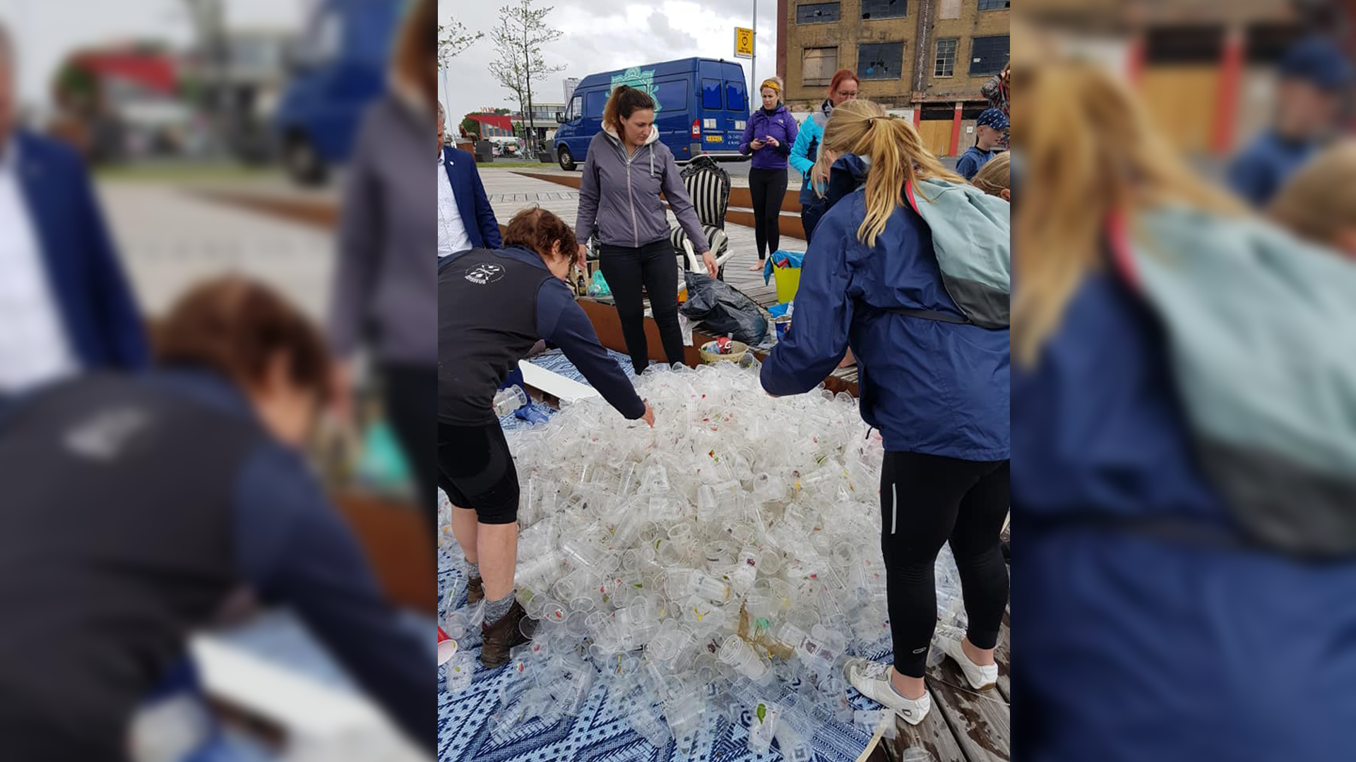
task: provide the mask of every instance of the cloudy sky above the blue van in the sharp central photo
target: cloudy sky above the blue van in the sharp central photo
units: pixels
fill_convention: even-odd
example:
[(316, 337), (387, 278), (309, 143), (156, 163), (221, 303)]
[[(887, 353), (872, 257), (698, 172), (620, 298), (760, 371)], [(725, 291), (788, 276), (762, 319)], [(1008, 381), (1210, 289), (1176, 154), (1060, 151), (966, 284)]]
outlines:
[[(506, 1), (510, 0), (439, 0), (438, 16), (443, 23), (456, 19), (471, 30), (488, 33)], [(735, 60), (735, 27), (750, 26), (754, 8), (753, 0), (537, 0), (537, 5), (555, 8), (546, 20), (563, 33), (542, 52), (548, 64), (565, 69), (533, 87), (533, 102), (540, 88), (546, 103), (564, 100), (564, 77), (583, 79), (594, 72), (692, 56)], [(776, 73), (776, 0), (758, 3), (757, 52), (758, 76)], [(443, 95), (449, 117), (483, 106), (517, 106), (514, 95), (490, 75), (487, 64), (494, 58), (494, 43), (487, 34), (452, 60)], [(749, 61), (740, 62), (747, 79)]]

